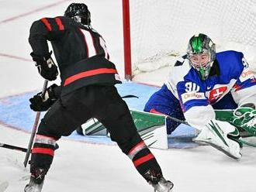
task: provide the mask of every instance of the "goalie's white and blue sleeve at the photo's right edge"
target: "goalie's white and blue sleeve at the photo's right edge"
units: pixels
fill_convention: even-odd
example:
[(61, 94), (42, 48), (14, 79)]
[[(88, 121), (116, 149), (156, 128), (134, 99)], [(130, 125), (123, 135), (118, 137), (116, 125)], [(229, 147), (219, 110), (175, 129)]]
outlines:
[(239, 106), (246, 103), (253, 103), (256, 106), (256, 77), (244, 58), (241, 62), (244, 70), (234, 84), (231, 94)]

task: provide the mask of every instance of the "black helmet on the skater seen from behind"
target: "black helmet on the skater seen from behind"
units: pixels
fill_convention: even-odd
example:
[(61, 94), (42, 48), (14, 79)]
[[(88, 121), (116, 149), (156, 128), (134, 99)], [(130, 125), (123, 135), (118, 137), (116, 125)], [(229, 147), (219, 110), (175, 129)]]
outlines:
[(71, 3), (64, 12), (64, 16), (70, 17), (86, 26), (91, 24), (91, 13), (84, 3)]

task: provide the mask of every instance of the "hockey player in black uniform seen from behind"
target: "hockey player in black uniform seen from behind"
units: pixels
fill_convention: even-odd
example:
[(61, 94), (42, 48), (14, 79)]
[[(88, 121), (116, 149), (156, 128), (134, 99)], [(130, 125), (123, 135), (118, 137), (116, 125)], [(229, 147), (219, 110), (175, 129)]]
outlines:
[[(61, 86), (47, 88), (45, 97), (36, 94), (29, 101), (34, 111), (47, 111), (40, 122), (30, 160), (30, 181), (26, 192), (41, 191), (54, 159), (56, 141), (70, 135), (89, 118), (97, 118), (111, 139), (130, 157), (137, 171), (155, 191), (171, 191), (154, 155), (137, 133), (130, 111), (114, 84), (121, 83), (102, 36), (92, 29), (85, 4), (72, 3), (64, 16), (43, 18), (30, 29), (31, 56), (42, 77), (49, 81), (61, 74)], [(53, 46), (57, 65), (47, 41)]]

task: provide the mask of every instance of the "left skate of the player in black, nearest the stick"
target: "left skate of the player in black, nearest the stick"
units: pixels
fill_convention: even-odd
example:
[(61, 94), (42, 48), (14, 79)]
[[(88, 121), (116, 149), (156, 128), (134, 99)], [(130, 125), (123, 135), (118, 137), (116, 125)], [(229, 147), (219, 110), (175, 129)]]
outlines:
[(43, 188), (43, 181), (47, 171), (44, 169), (33, 169), (29, 183), (26, 185), (25, 192), (40, 192)]

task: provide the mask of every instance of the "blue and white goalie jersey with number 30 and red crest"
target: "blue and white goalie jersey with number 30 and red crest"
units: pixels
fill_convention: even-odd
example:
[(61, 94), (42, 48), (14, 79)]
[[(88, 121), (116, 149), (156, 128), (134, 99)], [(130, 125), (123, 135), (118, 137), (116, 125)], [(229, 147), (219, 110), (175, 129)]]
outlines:
[(187, 122), (197, 129), (202, 129), (215, 118), (211, 105), (229, 92), (238, 106), (245, 103), (256, 105), (256, 78), (244, 54), (233, 50), (216, 53), (205, 81), (184, 56), (172, 67), (165, 84), (179, 100)]

